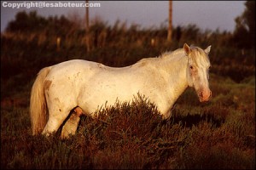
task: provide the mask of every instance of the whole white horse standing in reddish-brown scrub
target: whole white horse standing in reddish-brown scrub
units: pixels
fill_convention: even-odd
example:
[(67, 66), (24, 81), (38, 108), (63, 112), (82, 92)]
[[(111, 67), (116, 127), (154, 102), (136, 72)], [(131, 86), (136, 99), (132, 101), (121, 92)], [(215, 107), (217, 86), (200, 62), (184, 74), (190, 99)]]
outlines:
[[(212, 95), (208, 84), (210, 49), (185, 43), (183, 48), (158, 58), (141, 59), (122, 68), (81, 59), (45, 67), (32, 86), (32, 134), (49, 135), (67, 120), (61, 132), (66, 138), (76, 132), (80, 114), (94, 116), (106, 102), (129, 101), (137, 93), (154, 102), (165, 118), (188, 87), (195, 88), (201, 102), (208, 101)], [(78, 114), (68, 117), (75, 108)]]

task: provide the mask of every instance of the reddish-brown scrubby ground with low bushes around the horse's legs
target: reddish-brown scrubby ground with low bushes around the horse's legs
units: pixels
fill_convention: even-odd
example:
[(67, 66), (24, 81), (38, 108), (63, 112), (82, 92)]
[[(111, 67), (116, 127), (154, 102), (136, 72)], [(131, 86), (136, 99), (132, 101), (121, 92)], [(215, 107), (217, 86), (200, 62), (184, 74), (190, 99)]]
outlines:
[[(1, 168), (255, 167), (255, 78), (240, 83), (210, 76), (212, 100), (188, 88), (162, 120), (147, 99), (116, 103), (82, 117), (70, 139), (33, 137), (32, 83), (1, 101)], [(108, 115), (108, 116), (107, 116)]]

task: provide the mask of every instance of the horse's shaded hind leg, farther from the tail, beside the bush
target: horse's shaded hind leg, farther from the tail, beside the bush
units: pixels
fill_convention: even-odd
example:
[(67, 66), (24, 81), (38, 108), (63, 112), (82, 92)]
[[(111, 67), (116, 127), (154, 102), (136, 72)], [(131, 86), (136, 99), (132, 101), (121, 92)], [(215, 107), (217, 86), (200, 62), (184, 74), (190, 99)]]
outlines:
[(80, 117), (77, 113), (73, 112), (67, 119), (61, 130), (61, 138), (68, 138), (70, 134), (75, 134), (79, 126)]

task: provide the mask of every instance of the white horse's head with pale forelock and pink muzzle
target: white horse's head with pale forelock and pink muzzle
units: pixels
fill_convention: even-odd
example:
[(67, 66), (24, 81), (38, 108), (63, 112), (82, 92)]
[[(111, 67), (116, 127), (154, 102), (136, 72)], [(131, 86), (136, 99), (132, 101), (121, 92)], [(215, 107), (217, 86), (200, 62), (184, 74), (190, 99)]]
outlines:
[(211, 66), (208, 54), (211, 46), (205, 50), (196, 47), (189, 47), (184, 44), (183, 49), (188, 57), (187, 80), (189, 87), (194, 87), (201, 102), (208, 101), (212, 96), (209, 88), (209, 67)]

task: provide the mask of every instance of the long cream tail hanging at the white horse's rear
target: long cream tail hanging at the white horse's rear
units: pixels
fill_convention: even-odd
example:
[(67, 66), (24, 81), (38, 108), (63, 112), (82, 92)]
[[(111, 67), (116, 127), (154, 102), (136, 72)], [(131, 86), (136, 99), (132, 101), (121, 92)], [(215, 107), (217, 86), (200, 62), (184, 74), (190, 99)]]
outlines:
[(30, 97), (30, 117), (32, 125), (32, 135), (42, 133), (47, 122), (47, 105), (44, 96), (44, 80), (51, 67), (45, 67), (38, 72)]

